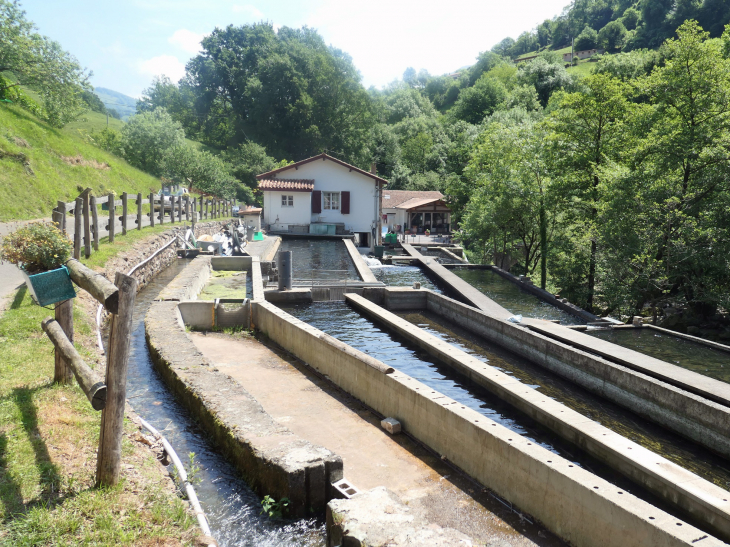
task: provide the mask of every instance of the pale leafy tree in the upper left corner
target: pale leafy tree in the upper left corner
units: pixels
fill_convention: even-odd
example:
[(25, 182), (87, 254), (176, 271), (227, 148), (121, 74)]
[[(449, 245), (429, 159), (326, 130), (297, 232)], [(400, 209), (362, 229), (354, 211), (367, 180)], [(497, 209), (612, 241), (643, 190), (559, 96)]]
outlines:
[(82, 93), (91, 73), (71, 54), (35, 32), (17, 0), (0, 0), (0, 98), (18, 86), (40, 95), (43, 117), (63, 127), (86, 109)]

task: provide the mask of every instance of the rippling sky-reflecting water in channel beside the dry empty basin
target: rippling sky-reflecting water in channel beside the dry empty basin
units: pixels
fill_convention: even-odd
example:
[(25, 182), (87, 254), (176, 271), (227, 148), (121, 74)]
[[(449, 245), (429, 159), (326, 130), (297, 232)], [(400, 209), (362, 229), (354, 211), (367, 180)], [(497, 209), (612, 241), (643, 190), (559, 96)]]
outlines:
[[(370, 319), (363, 317), (346, 303), (318, 302), (282, 306), (282, 308), (298, 319), (408, 374), (462, 405), (476, 410), (531, 442), (570, 460), (574, 465), (584, 467), (617, 487), (633, 493), (664, 511), (677, 515), (676, 511), (651, 493), (579, 448), (563, 441), (559, 436), (501, 401), (487, 390), (469, 382), (449, 367), (438, 363), (425, 352), (412, 346), (407, 340), (390, 333)], [(419, 319), (419, 321), (422, 320)], [(436, 331), (437, 329), (433, 330)], [(506, 362), (501, 361), (501, 359), (500, 362), (505, 365), (502, 368), (506, 371)], [(490, 364), (493, 364), (491, 360)], [(517, 377), (523, 381), (527, 380), (525, 383), (530, 387), (542, 387), (544, 383), (542, 378)], [(546, 392), (546, 395), (549, 395), (549, 393)], [(596, 412), (600, 413), (601, 409), (599, 408)], [(719, 458), (710, 458), (709, 461), (710, 463), (707, 465), (709, 469), (705, 478), (712, 475), (715, 478), (713, 482), (723, 483), (721, 486), (725, 488), (730, 487), (730, 484), (725, 484), (725, 481), (730, 481), (730, 471), (723, 475), (723, 472), (727, 470), (727, 464)], [(712, 469), (715, 463), (721, 466), (720, 471)]]

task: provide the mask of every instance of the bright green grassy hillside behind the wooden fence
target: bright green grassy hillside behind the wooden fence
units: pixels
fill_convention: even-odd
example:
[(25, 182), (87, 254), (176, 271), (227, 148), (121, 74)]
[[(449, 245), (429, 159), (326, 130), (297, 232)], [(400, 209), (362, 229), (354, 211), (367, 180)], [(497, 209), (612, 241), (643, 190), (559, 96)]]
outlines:
[[(102, 123), (100, 114), (87, 116)], [(155, 177), (84, 142), (80, 135), (89, 127), (87, 121), (54, 129), (20, 107), (0, 104), (0, 222), (50, 217), (56, 201), (70, 201), (87, 187), (96, 195), (160, 189)], [(71, 159), (79, 156), (80, 163)]]

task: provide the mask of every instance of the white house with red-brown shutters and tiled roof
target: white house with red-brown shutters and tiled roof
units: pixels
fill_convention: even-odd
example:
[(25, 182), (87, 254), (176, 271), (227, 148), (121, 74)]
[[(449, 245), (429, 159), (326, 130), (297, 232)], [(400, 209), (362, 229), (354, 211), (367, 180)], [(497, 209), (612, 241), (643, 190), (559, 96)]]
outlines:
[(264, 195), (264, 228), (275, 233), (355, 234), (381, 243), (380, 196), (388, 181), (327, 154), (256, 176)]

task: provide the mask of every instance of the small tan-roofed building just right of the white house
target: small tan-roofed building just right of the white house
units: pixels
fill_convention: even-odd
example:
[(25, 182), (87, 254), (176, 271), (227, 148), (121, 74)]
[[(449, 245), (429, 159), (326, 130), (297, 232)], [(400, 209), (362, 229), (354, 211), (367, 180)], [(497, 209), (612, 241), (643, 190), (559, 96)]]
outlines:
[[(441, 192), (383, 189), (382, 211), (388, 230), (397, 233), (434, 234), (451, 231), (451, 209)], [(415, 232), (414, 232), (415, 230)]]

